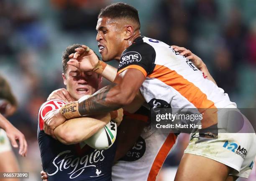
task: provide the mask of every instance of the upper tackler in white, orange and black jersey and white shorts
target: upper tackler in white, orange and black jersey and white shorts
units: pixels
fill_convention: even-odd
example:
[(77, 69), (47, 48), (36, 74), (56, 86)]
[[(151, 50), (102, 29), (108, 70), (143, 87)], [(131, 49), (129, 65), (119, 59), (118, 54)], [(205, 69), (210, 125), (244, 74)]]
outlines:
[[(197, 71), (187, 58), (159, 40), (141, 36), (138, 11), (135, 8), (116, 3), (102, 9), (96, 29), (102, 60), (119, 61), (115, 83), (102, 88), (81, 103), (73, 102), (63, 106), (53, 115), (58, 119), (47, 123), (50, 130), (54, 130), (70, 116), (79, 117), (125, 107), (134, 101), (139, 90), (149, 104), (160, 99), (172, 108), (198, 109), (204, 114), (202, 128), (217, 125), (223, 108), (236, 108), (228, 95), (212, 81), (205, 79), (202, 72)], [(104, 73), (106, 64), (98, 61), (88, 47), (84, 48), (87, 51), (81, 53), (82, 57), (70, 61), (69, 65)], [(88, 59), (94, 60), (92, 65), (95, 66), (92, 69), (87, 67)], [(75, 113), (66, 111), (74, 105)], [(234, 180), (236, 176), (248, 177), (256, 154), (255, 133), (243, 133), (243, 136), (236, 133), (221, 133), (218, 136), (210, 133), (205, 135), (205, 138), (211, 137), (208, 141), (197, 144), (195, 142), (200, 140), (199, 134), (194, 136), (185, 152), (188, 154), (182, 158), (177, 181), (223, 181)], [(235, 145), (234, 148), (229, 143)], [(211, 151), (204, 149), (209, 146)], [(235, 148), (239, 149), (239, 154)]]

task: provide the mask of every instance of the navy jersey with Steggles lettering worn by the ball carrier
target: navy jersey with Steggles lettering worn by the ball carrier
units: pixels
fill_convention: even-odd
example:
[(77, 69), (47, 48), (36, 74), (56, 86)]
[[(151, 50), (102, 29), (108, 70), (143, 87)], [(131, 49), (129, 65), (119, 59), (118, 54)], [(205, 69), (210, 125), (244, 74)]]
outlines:
[(65, 145), (44, 133), (44, 116), (59, 109), (63, 101), (51, 100), (42, 104), (38, 113), (38, 143), (48, 181), (110, 181), (116, 144), (107, 150), (97, 150), (81, 142)]

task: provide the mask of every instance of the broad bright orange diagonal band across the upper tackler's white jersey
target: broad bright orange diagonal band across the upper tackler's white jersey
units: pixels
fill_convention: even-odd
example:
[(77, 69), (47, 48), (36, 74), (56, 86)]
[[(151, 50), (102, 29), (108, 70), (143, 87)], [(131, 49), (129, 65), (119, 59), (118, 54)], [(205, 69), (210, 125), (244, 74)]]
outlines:
[(175, 70), (171, 70), (163, 65), (156, 65), (149, 78), (157, 78), (163, 83), (171, 86), (192, 103), (200, 113), (202, 113), (202, 128), (207, 128), (217, 123), (217, 111), (214, 102), (207, 99), (205, 93), (200, 88), (189, 82)]

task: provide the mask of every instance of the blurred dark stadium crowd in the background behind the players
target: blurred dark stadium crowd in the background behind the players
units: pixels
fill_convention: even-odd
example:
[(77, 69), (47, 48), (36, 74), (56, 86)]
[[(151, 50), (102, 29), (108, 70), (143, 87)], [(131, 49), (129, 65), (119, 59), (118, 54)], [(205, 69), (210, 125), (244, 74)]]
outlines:
[[(238, 108), (256, 108), (256, 3), (253, 0), (120, 0), (136, 7), (142, 35), (192, 50)], [(28, 141), (21, 171), (40, 180), (37, 113), (47, 96), (63, 88), (61, 53), (81, 43), (97, 52), (97, 14), (117, 0), (0, 0), (0, 74), (18, 99), (9, 120)], [(111, 65), (118, 65), (110, 62)], [(108, 84), (107, 81), (102, 86)], [(175, 176), (188, 135), (164, 163), (159, 181)], [(171, 169), (173, 168), (173, 169)], [(170, 178), (170, 177), (168, 177)], [(251, 180), (256, 179), (256, 171)]]

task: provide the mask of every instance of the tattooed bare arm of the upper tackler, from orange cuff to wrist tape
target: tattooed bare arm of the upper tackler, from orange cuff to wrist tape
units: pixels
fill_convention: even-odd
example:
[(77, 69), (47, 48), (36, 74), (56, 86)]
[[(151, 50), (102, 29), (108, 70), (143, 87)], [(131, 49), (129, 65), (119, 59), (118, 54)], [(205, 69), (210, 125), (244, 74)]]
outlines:
[[(112, 83), (90, 98), (78, 103), (80, 115), (109, 112), (130, 104), (135, 98), (145, 75), (135, 68), (129, 68), (117, 75)], [(67, 105), (68, 106), (68, 105)]]

